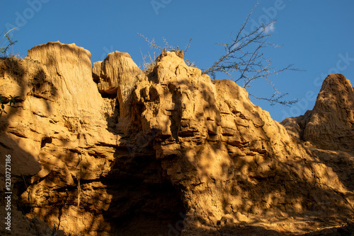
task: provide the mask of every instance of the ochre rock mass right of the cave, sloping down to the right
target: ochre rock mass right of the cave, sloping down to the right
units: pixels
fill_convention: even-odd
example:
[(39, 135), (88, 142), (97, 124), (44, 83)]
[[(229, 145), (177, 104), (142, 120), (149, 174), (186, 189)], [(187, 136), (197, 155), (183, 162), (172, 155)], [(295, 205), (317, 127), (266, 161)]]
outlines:
[[(210, 81), (173, 52), (157, 59), (151, 81), (137, 85), (135, 99), (145, 107), (142, 131), (156, 136), (156, 158), (183, 191), (183, 235), (200, 224), (220, 230), (223, 222), (236, 227), (246, 221), (274, 228), (269, 220), (317, 217), (319, 211), (331, 218), (330, 209), (341, 212), (342, 220), (353, 216), (353, 202), (327, 200), (337, 191), (328, 188), (349, 194), (336, 172), (253, 105), (236, 83)], [(280, 231), (306, 232), (304, 225), (296, 231), (287, 223)]]

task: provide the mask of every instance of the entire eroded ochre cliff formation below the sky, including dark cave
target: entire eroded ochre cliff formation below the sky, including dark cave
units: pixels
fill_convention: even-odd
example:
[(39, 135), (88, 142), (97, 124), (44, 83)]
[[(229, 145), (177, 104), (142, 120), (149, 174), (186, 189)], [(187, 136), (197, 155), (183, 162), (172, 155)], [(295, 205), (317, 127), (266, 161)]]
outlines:
[(344, 76), (326, 78), (314, 110), (283, 126), (181, 52), (163, 52), (148, 76), (127, 53), (93, 69), (90, 57), (50, 42), (0, 61), (0, 95), (20, 96), (0, 119), (18, 232), (304, 235), (352, 222)]

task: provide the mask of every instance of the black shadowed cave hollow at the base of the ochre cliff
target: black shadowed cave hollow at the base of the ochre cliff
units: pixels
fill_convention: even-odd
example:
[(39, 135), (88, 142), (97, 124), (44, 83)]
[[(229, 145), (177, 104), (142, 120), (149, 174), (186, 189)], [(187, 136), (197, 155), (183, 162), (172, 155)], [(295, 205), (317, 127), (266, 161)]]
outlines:
[(102, 180), (112, 201), (103, 214), (110, 235), (180, 235), (185, 208), (155, 156), (116, 158)]

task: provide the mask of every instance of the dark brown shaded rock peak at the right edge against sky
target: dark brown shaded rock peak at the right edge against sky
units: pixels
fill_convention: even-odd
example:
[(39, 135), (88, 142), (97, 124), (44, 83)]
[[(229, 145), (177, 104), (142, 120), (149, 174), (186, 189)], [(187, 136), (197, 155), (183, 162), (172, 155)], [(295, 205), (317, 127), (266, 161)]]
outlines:
[[(329, 75), (312, 111), (282, 122), (295, 136), (326, 149), (354, 148), (354, 90), (341, 74)], [(292, 125), (291, 125), (292, 124)]]

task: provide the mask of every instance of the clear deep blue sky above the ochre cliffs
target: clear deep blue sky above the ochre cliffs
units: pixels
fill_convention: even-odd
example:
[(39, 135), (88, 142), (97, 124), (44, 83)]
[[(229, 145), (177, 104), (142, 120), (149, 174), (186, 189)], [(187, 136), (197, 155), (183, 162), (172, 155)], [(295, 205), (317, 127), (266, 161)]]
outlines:
[[(100, 61), (108, 52), (128, 52), (139, 65), (149, 47), (137, 33), (163, 44), (185, 47), (193, 40), (185, 57), (206, 69), (223, 52), (216, 42), (230, 42), (256, 0), (135, 0), (135, 1), (1, 1), (0, 26), (17, 26), (18, 40), (13, 52), (27, 56), (27, 50), (50, 41), (75, 43), (88, 49), (91, 61)], [(288, 99), (299, 98), (293, 107), (251, 100), (282, 121), (288, 116), (312, 110), (314, 97), (329, 73), (343, 73), (354, 82), (354, 1), (353, 0), (263, 0), (252, 15), (252, 24), (276, 18), (270, 42), (283, 45), (266, 49), (265, 57), (281, 68), (295, 64), (304, 72), (286, 72), (272, 80)], [(150, 50), (151, 51), (151, 50)], [(227, 78), (219, 76), (217, 79)], [(250, 93), (272, 94), (263, 81), (252, 84)]]

